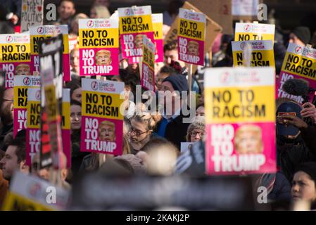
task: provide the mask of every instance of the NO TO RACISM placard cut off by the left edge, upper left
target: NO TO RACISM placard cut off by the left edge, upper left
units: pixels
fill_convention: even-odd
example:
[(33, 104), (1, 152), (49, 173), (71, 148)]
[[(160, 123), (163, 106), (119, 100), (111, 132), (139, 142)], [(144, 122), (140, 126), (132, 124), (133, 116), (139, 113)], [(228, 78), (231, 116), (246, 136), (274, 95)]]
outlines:
[(0, 68), (5, 88), (13, 88), (15, 75), (32, 75), (29, 34), (0, 34)]

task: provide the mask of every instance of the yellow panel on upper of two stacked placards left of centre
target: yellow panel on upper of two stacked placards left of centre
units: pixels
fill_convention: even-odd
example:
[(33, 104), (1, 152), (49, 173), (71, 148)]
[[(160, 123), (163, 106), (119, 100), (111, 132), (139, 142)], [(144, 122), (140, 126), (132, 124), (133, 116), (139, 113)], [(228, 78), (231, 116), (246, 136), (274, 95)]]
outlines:
[[(94, 37), (84, 37), (83, 38), (83, 32), (84, 31), (93, 31), (94, 32)], [(118, 48), (118, 28), (107, 28), (107, 29), (98, 29), (98, 30), (106, 30), (108, 32), (107, 37), (102, 37), (102, 35), (98, 35), (98, 32), (96, 29), (80, 29), (79, 30), (79, 46), (84, 49), (94, 49), (94, 48)], [(102, 32), (100, 32), (102, 34)], [(112, 39), (113, 38), (113, 45), (99, 45), (99, 46), (94, 46), (94, 45), (89, 45), (89, 46), (83, 46), (83, 39)], [(89, 42), (89, 41), (88, 41)]]

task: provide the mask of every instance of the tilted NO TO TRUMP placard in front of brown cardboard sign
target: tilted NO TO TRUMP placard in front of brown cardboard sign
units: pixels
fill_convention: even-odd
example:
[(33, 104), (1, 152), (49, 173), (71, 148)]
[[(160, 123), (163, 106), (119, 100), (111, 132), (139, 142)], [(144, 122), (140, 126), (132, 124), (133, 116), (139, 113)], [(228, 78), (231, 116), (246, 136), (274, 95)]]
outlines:
[(206, 15), (184, 8), (179, 9), (178, 55), (179, 60), (204, 65)]

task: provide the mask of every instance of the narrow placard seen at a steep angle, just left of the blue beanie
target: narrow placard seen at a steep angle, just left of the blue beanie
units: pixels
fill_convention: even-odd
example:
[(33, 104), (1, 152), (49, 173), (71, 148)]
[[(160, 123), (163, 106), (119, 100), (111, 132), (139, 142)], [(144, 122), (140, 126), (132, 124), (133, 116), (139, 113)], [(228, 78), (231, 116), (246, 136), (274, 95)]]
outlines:
[(155, 91), (155, 44), (144, 37), (143, 58), (141, 60), (141, 87), (149, 91)]

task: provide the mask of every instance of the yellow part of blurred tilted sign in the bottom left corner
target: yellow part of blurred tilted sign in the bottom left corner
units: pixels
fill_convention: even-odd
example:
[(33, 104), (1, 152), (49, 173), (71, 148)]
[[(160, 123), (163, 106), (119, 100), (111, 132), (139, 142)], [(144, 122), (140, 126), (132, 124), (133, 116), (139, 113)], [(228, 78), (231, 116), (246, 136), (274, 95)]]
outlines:
[[(18, 207), (18, 208), (17, 208)], [(4, 200), (4, 206), (2, 208), (4, 211), (52, 211), (53, 209), (36, 203), (33, 200), (25, 198), (21, 195), (15, 194), (13, 192), (8, 192), (6, 194), (6, 200)]]

